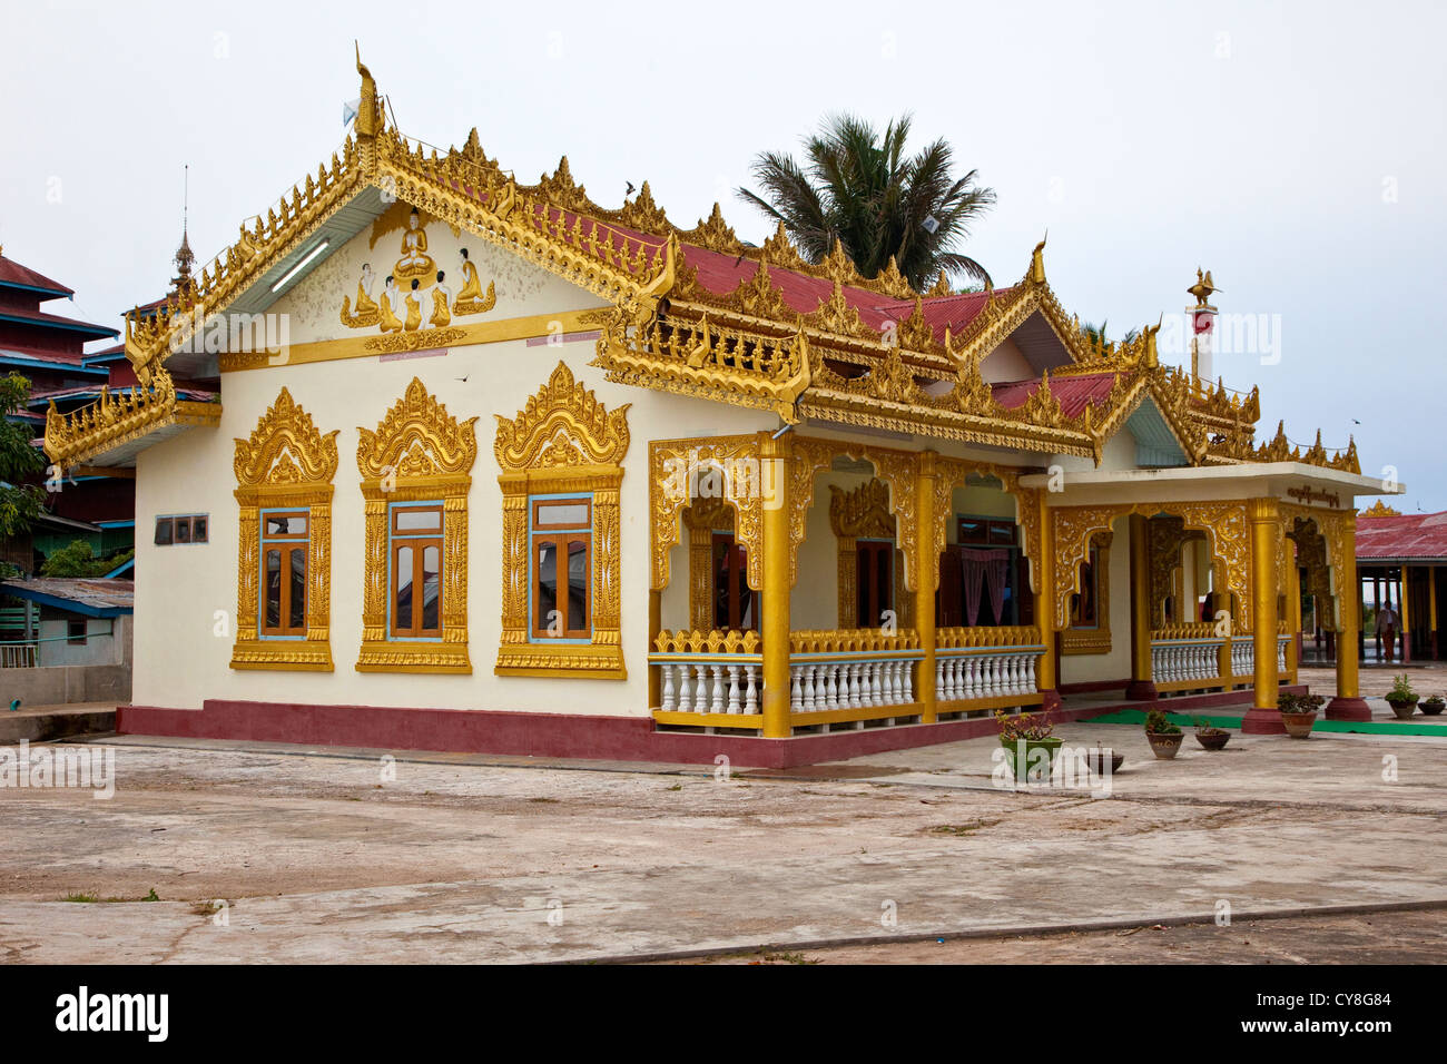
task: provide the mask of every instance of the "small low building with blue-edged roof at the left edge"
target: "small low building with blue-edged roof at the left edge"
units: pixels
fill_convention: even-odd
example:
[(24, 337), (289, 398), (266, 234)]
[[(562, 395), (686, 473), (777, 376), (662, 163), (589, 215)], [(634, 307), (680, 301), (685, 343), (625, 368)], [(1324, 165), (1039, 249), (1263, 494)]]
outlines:
[(32, 614), (23, 641), (0, 646), (0, 701), (26, 705), (130, 698), (133, 585), (117, 579), (0, 582)]

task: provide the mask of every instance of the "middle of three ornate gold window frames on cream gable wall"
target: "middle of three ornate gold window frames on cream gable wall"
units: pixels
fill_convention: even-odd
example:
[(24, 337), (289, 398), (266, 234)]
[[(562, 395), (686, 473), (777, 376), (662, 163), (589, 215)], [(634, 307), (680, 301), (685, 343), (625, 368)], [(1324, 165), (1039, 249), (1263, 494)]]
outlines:
[[(357, 472), (366, 507), (362, 650), (357, 672), (470, 673), (467, 656), (467, 492), (478, 457), (476, 417), (459, 421), (420, 378), (378, 423), (357, 428)], [(441, 502), (441, 638), (388, 637), (392, 502)]]

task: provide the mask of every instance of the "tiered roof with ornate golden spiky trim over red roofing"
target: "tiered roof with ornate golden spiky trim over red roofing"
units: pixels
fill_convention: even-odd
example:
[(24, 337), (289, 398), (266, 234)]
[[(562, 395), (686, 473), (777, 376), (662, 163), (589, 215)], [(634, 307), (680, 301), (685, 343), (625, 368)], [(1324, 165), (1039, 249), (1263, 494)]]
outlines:
[[(768, 408), (790, 423), (815, 417), (1097, 460), (1104, 440), (1149, 395), (1191, 462), (1281, 460), (1275, 456), (1294, 453), (1299, 457), (1292, 460), (1356, 466), (1354, 443), (1334, 456), (1320, 439), (1305, 452), (1291, 449), (1283, 431), (1257, 444), (1256, 392), (1242, 398), (1223, 384), (1202, 387), (1188, 373), (1160, 366), (1159, 326), (1121, 343), (1088, 339), (1046, 281), (1043, 239), (1019, 282), (961, 294), (977, 300), (978, 311), (958, 333), (941, 332), (926, 317), (925, 301), (954, 295), (945, 272), (928, 292), (913, 291), (893, 259), (878, 276), (864, 278), (838, 240), (820, 262), (810, 263), (781, 223), (754, 248), (738, 239), (719, 204), (695, 227), (679, 229), (648, 182), (621, 207), (605, 208), (574, 180), (567, 156), (535, 185), (518, 184), (488, 156), (476, 129), (462, 148), (441, 153), (402, 136), (386, 123), (382, 97), (360, 56), (357, 72), (362, 106), (355, 136), (330, 165), (308, 174), (265, 217), (243, 224), (237, 240), (155, 314), (127, 316), (126, 355), (142, 385), (161, 379), (169, 342), (185, 320), (194, 320), (192, 313), (224, 310), (268, 272), (295, 261), (337, 208), (381, 185), (612, 304), (598, 313), (595, 360), (611, 381)], [(757, 266), (741, 274), (732, 291), (713, 292), (683, 261), (684, 245)], [(792, 307), (777, 271), (828, 281), (829, 294), (812, 308)], [(861, 308), (870, 311), (868, 318)], [(880, 327), (870, 324), (881, 316)], [(1004, 408), (980, 368), (1033, 316), (1046, 321), (1069, 362), (1052, 369), (1022, 405)], [(1113, 373), (1114, 381), (1104, 401), (1069, 415), (1052, 379), (1079, 373)], [(137, 402), (153, 402), (146, 395)], [(48, 439), (52, 423), (56, 446), (87, 434), (85, 417), (135, 420), (135, 411), (122, 415), (106, 407), (91, 415), (56, 414), (48, 420)]]

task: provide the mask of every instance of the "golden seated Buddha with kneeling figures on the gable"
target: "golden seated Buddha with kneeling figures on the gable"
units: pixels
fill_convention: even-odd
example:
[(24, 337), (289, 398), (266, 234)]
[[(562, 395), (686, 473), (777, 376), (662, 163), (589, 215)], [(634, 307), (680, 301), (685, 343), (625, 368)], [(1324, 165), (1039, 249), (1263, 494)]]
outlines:
[[(433, 220), (433, 224), (440, 224)], [(433, 258), (436, 249), (427, 243), (428, 220), (421, 211), (405, 203), (385, 211), (372, 227), (373, 249), (401, 229), (396, 248), (398, 258), (385, 275), (379, 275), (370, 262), (362, 263), (356, 284), (356, 303), (352, 295), (341, 297), (341, 324), (350, 329), (376, 329), (382, 333), (415, 332), (418, 329), (441, 329), (454, 317), (483, 314), (496, 305), (496, 288), (492, 281), (483, 291), (478, 266), (467, 256), (467, 249), (456, 252), (456, 263), (438, 265)], [(444, 226), (451, 229), (450, 226)], [(453, 236), (459, 230), (453, 229)], [(449, 269), (460, 278), (460, 287), (449, 282)]]

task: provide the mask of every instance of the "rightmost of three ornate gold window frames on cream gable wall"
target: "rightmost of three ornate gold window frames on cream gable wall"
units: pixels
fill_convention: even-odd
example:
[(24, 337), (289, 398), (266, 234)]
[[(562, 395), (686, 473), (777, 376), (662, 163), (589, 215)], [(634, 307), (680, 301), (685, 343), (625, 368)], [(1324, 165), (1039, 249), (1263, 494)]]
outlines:
[[(502, 641), (498, 676), (628, 677), (621, 638), (618, 491), (628, 453), (628, 407), (605, 410), (559, 362), (512, 420), (498, 418), (493, 453), (502, 488)], [(592, 586), (587, 643), (530, 637), (528, 528), (534, 495), (592, 494)]]

